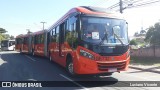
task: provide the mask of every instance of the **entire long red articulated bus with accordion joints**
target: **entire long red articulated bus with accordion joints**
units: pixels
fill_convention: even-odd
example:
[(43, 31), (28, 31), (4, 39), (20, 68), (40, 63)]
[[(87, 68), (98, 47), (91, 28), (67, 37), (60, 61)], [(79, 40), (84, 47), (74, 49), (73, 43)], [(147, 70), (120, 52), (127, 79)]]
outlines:
[(48, 57), (65, 67), (70, 75), (110, 75), (128, 68), (127, 26), (120, 14), (104, 8), (76, 7), (49, 29), (30, 34), (28, 52)]

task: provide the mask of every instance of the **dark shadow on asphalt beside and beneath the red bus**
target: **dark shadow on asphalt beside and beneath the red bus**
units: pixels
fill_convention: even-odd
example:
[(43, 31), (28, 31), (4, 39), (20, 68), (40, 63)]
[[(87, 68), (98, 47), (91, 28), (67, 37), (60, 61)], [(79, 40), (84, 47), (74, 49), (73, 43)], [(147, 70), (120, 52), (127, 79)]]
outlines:
[[(28, 79), (33, 79), (37, 81), (55, 81), (63, 80), (71, 82), (63, 77), (60, 74), (67, 76), (72, 79), (74, 82), (79, 83), (85, 87), (102, 87), (102, 86), (114, 86), (118, 83), (118, 80), (111, 76), (105, 77), (95, 77), (95, 76), (78, 76), (78, 77), (69, 77), (65, 68), (60, 65), (50, 62), (46, 58), (42, 57), (33, 57), (36, 61), (27, 59), (25, 54), (19, 53), (3, 53), (1, 55), (0, 62), (0, 72), (1, 77), (0, 81), (28, 81)], [(75, 85), (74, 85), (75, 86)], [(79, 86), (74, 89), (79, 89)]]

